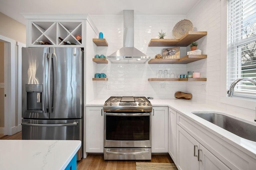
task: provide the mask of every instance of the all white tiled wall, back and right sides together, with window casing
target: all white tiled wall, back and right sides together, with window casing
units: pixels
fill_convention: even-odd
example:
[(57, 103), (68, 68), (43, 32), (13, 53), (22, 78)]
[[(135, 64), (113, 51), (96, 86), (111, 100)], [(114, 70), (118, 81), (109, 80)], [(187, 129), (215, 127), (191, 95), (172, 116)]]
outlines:
[[(207, 54), (207, 59), (202, 59), (187, 65), (178, 64), (98, 64), (97, 72), (106, 73), (108, 81), (98, 81), (96, 99), (107, 99), (114, 95), (141, 95), (158, 99), (172, 99), (176, 91), (192, 93), (192, 100), (221, 107), (226, 111), (240, 112), (245, 117), (255, 117), (256, 102), (239, 101), (234, 97), (226, 97), (226, 1), (201, 0), (187, 16), (134, 16), (134, 46), (151, 58), (158, 53), (162, 54), (164, 47), (148, 47), (151, 38), (157, 38), (158, 32), (167, 33), (165, 38), (172, 38), (172, 29), (182, 20), (192, 21), (195, 31), (207, 31), (197, 42), (198, 49)], [(122, 47), (122, 16), (92, 16), (98, 30), (103, 32), (108, 41), (108, 47), (97, 47), (98, 54), (110, 55)], [(222, 36), (221, 36), (222, 35)], [(224, 35), (224, 36), (223, 36)], [(182, 55), (186, 55), (188, 47), (182, 47)], [(201, 77), (207, 81), (175, 82), (175, 81), (148, 81), (156, 77), (158, 70), (167, 69), (175, 75), (186, 74), (187, 71), (200, 72)], [(111, 86), (110, 90), (104, 89), (104, 84)], [(160, 84), (165, 83), (166, 89), (160, 90)], [(206, 86), (206, 91), (202, 90)], [(229, 102), (227, 102), (229, 101)], [(250, 104), (249, 104), (250, 102)], [(239, 107), (238, 107), (239, 106)], [(253, 120), (253, 119), (252, 119)]]

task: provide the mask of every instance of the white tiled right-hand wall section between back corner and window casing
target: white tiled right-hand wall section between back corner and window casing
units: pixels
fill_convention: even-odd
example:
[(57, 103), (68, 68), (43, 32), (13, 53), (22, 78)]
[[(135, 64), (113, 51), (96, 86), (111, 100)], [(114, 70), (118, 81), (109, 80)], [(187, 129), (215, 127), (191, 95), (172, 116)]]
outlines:
[[(187, 18), (196, 30), (207, 31), (207, 36), (197, 41), (207, 59), (187, 64), (187, 71), (200, 72), (207, 81), (188, 82), (187, 90), (196, 101), (216, 104), (220, 101), (220, 0), (201, 0)], [(202, 91), (202, 85), (206, 85), (206, 91)]]

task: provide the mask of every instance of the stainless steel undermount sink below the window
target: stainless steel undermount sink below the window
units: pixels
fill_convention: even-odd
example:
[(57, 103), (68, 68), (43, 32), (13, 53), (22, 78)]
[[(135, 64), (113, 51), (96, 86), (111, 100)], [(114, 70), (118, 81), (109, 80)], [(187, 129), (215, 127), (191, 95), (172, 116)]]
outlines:
[(192, 112), (194, 115), (224, 128), (242, 138), (256, 142), (256, 126), (218, 113)]

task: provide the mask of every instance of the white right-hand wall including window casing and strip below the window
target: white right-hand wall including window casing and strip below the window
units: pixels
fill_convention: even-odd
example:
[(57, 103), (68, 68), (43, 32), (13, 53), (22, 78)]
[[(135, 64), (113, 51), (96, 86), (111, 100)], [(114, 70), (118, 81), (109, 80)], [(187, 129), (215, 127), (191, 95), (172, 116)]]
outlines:
[[(253, 121), (256, 102), (226, 97), (226, 12), (226, 1), (201, 0), (188, 13), (187, 18), (198, 31), (207, 31), (207, 36), (198, 40), (198, 49), (207, 54), (207, 59), (187, 64), (187, 71), (199, 71), (207, 81), (187, 82), (186, 90), (193, 94), (193, 100), (216, 105), (227, 112), (239, 112)], [(206, 91), (202, 91), (202, 85), (206, 85)]]

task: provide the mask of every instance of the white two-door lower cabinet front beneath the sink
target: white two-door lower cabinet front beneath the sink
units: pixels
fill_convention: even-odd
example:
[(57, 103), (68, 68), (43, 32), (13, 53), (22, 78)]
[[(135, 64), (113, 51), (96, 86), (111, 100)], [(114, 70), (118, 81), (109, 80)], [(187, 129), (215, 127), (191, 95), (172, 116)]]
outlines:
[(255, 170), (254, 155), (177, 112), (176, 166), (179, 170)]

